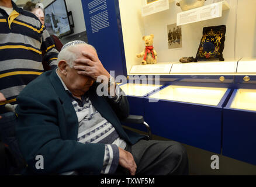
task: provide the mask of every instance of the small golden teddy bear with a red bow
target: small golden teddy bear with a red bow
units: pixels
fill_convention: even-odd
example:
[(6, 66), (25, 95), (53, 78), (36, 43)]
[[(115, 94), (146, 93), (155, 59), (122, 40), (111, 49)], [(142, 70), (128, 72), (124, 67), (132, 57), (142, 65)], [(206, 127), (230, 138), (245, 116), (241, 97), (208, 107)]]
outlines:
[(140, 54), (137, 54), (138, 58), (143, 57), (143, 60), (141, 61), (141, 64), (155, 64), (157, 63), (157, 52), (154, 50), (153, 47), (153, 39), (154, 34), (150, 34), (148, 36), (143, 36), (142, 39), (145, 42), (145, 49)]

